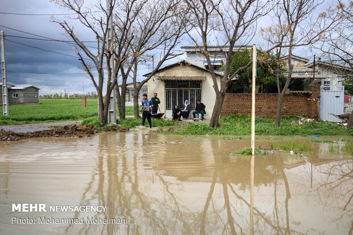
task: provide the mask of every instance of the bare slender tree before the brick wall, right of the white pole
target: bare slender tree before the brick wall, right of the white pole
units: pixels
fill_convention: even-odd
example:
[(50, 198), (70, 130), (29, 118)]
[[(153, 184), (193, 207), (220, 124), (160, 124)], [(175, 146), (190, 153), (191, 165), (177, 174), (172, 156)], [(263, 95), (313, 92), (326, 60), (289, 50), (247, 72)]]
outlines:
[(321, 0), (282, 0), (275, 11), (276, 22), (262, 29), (264, 38), (277, 49), (277, 58), (281, 50), (288, 51), (288, 73), (286, 83), (281, 89), (278, 85), (276, 126), (281, 124), (283, 96), (291, 82), (293, 63), (292, 51), (296, 47), (312, 45), (319, 41), (324, 33), (337, 24), (339, 15), (336, 13), (332, 18), (325, 18), (325, 12), (318, 12)]

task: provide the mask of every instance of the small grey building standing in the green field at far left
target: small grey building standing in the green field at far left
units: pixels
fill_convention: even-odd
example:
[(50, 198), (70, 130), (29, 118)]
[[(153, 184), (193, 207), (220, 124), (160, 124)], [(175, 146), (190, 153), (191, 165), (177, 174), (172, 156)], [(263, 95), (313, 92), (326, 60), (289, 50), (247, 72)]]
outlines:
[[(2, 85), (0, 83), (0, 85)], [(39, 103), (39, 88), (32, 85), (16, 86), (7, 83), (9, 104), (34, 104)], [(0, 90), (0, 103), (2, 105), (2, 90)]]

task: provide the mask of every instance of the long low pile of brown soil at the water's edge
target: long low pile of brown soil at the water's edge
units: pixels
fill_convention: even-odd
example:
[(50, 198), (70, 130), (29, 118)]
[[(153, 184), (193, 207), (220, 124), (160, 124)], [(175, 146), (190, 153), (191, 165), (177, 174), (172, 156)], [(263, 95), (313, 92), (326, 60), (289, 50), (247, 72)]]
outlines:
[[(107, 131), (106, 129), (93, 126), (77, 126), (76, 124), (55, 127), (44, 131), (17, 133), (0, 129), (0, 141), (14, 141), (28, 138), (42, 137), (89, 137), (96, 132)], [(110, 126), (109, 131), (127, 132), (128, 129), (120, 126)]]

